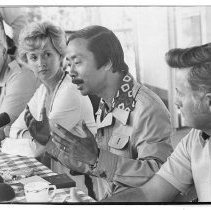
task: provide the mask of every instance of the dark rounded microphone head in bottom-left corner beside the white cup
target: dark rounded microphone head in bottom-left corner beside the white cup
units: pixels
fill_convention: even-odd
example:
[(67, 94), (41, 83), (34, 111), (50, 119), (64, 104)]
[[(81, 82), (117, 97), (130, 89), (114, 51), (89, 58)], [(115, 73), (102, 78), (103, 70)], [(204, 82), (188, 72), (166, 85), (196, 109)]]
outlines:
[(0, 202), (10, 201), (15, 197), (13, 188), (5, 183), (0, 183)]

